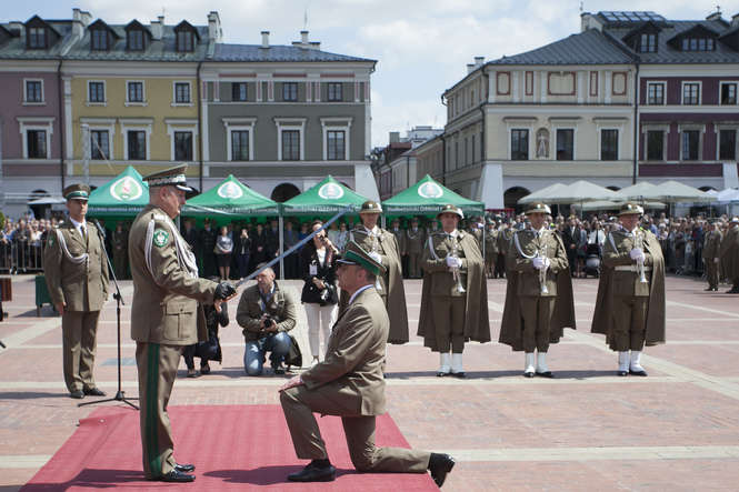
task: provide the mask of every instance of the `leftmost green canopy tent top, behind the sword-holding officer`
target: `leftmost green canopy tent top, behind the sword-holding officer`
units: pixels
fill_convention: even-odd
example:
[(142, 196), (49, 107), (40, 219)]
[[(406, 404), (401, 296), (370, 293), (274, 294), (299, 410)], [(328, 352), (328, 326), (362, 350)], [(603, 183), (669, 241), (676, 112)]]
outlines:
[(101, 218), (136, 217), (149, 203), (149, 185), (132, 165), (90, 193), (88, 215)]

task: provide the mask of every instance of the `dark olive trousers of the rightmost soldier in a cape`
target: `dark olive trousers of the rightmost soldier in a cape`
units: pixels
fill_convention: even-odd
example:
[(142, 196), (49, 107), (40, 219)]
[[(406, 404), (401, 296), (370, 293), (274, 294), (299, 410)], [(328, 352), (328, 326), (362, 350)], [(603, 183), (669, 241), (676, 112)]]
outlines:
[(610, 348), (617, 352), (642, 350), (647, 329), (647, 295), (613, 297), (613, 331)]

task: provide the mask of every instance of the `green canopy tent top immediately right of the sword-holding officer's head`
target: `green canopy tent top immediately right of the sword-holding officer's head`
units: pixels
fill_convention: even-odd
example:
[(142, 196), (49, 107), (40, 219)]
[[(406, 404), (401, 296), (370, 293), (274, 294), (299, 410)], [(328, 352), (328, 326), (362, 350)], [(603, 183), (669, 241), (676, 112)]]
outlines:
[(182, 208), (182, 217), (208, 217), (217, 223), (279, 213), (279, 203), (244, 185), (232, 174), (210, 190), (192, 197)]

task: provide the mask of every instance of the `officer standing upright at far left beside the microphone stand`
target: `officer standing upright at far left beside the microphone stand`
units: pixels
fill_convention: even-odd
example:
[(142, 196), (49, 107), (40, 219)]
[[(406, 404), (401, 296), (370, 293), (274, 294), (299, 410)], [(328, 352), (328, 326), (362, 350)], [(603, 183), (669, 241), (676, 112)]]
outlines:
[(43, 251), (49, 295), (61, 314), (64, 383), (71, 398), (104, 396), (94, 384), (96, 335), (108, 299), (108, 260), (98, 228), (86, 221), (90, 187), (64, 188), (69, 220), (50, 231)]

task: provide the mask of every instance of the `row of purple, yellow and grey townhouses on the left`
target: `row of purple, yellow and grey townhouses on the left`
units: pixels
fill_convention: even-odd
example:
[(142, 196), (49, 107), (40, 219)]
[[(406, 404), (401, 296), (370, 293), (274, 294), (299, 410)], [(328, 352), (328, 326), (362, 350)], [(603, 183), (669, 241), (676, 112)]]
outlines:
[(279, 201), (326, 174), (378, 198), (370, 170), (376, 61), (328, 53), (308, 32), (291, 46), (222, 43), (218, 12), (194, 26), (163, 17), (0, 24), (3, 211), (97, 187), (134, 165), (188, 162), (206, 190), (228, 174)]

